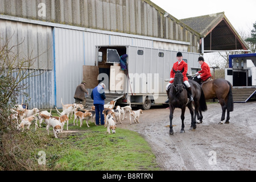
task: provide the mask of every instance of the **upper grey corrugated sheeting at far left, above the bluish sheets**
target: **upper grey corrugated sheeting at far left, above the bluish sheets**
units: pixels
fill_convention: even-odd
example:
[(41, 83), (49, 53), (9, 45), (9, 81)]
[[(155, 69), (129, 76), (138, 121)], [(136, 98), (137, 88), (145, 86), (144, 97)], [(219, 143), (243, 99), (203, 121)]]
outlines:
[(9, 47), (20, 44), (12, 49), (19, 60), (36, 58), (31, 68), (52, 69), (51, 27), (0, 19), (0, 37), (2, 45), (6, 40)]

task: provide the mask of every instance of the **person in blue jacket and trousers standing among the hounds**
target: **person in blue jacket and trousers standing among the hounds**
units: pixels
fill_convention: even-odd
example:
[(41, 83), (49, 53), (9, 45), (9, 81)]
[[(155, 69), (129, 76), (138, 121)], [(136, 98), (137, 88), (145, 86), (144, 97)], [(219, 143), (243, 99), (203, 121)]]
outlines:
[(101, 125), (104, 125), (104, 114), (102, 114), (104, 110), (105, 104), (105, 84), (100, 84), (93, 89), (92, 94), (90, 94), (90, 98), (93, 100), (93, 105), (95, 106), (96, 113), (96, 126), (100, 125), (100, 116), (101, 116)]

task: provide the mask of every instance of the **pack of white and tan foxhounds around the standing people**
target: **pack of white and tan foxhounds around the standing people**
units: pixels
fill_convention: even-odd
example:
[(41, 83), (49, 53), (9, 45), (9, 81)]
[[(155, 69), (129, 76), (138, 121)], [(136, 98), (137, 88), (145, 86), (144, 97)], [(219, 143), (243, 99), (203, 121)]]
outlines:
[[(117, 123), (121, 123), (124, 119), (129, 115), (130, 125), (131, 125), (131, 117), (134, 118), (134, 123), (139, 123), (140, 114), (143, 114), (142, 110), (132, 110), (131, 105), (120, 107), (115, 106), (116, 101), (111, 101), (109, 105), (104, 105), (104, 114), (105, 117), (105, 127), (107, 128), (107, 133), (116, 132)], [(96, 112), (95, 107), (92, 106), (89, 110), (85, 110), (81, 104), (63, 104), (61, 98), (61, 104), (63, 106), (63, 111), (60, 111), (56, 108), (59, 117), (53, 117), (51, 111), (40, 111), (37, 108), (34, 109), (24, 109), (22, 105), (15, 105), (13, 109), (11, 109), (10, 118), (15, 122), (16, 128), (22, 132), (24, 131), (24, 127), (27, 127), (27, 130), (30, 129), (31, 124), (35, 125), (35, 130), (39, 127), (42, 127), (42, 123), (46, 123), (46, 130), (49, 135), (49, 129), (52, 127), (53, 134), (55, 138), (58, 138), (61, 132), (63, 132), (64, 126), (67, 125), (68, 131), (68, 122), (69, 118), (72, 118), (74, 114), (73, 125), (79, 126), (78, 122), (80, 121), (80, 127), (82, 127), (82, 123), (84, 120), (86, 121), (87, 127), (89, 126), (89, 122), (93, 122), (96, 125)], [(114, 109), (115, 108), (115, 109)], [(39, 121), (39, 126), (38, 126)]]

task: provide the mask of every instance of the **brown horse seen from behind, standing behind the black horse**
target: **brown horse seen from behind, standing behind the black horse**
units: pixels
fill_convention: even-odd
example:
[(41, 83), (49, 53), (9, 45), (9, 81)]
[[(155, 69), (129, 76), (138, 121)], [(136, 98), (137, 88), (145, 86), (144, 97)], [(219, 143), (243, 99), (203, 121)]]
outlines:
[[(197, 77), (193, 77), (193, 80), (199, 82)], [(233, 94), (232, 94), (232, 85), (229, 81), (218, 78), (216, 80), (210, 80), (207, 82), (204, 82), (202, 85), (205, 100), (212, 99), (212, 98), (218, 98), (220, 105), (222, 107), (222, 116), (221, 116), (221, 122), (220, 124), (223, 124), (223, 121), (225, 120), (225, 114), (226, 115), (226, 124), (229, 123), (229, 113), (234, 110), (234, 102), (233, 102)], [(200, 113), (200, 118), (203, 118), (203, 115)], [(197, 115), (197, 118), (199, 116)], [(202, 119), (200, 119), (200, 122), (202, 123)]]

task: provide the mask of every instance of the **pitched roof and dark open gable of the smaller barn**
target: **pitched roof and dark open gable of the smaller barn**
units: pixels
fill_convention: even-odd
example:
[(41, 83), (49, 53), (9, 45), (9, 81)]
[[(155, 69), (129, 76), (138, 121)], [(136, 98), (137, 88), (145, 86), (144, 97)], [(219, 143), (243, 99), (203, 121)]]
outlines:
[(204, 38), (204, 50), (228, 51), (244, 49), (248, 46), (226, 18), (224, 12), (181, 19)]

